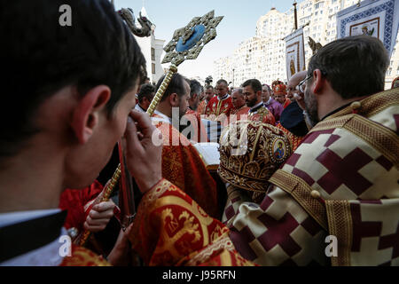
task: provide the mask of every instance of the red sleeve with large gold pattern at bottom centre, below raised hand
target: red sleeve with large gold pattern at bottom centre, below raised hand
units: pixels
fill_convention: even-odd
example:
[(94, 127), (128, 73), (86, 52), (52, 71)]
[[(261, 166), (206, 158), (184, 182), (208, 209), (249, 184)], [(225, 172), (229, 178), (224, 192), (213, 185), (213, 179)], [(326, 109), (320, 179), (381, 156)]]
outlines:
[(129, 241), (146, 265), (254, 265), (234, 248), (229, 229), (162, 179), (145, 193)]

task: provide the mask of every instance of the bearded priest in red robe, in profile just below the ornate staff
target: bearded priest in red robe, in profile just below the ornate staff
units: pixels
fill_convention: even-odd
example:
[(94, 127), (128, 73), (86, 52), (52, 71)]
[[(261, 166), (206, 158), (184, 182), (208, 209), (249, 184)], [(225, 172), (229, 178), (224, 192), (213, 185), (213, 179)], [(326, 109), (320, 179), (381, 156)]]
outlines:
[[(157, 88), (163, 78), (160, 78)], [(180, 74), (172, 76), (165, 94), (160, 100), (153, 124), (162, 132), (162, 177), (192, 196), (207, 214), (219, 218), (218, 194), (215, 180), (210, 176), (198, 151), (179, 130), (186, 113), (190, 85)], [(184, 121), (184, 118), (183, 120)]]

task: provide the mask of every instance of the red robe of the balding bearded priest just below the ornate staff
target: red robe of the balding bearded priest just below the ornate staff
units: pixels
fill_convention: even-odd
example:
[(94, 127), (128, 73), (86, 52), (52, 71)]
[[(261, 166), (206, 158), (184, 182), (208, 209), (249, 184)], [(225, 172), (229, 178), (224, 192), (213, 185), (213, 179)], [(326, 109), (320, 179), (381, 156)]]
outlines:
[(220, 218), (218, 193), (213, 177), (190, 141), (168, 121), (163, 114), (153, 114), (153, 124), (161, 131), (162, 177), (192, 196), (207, 214)]

